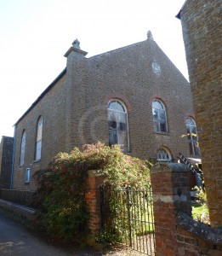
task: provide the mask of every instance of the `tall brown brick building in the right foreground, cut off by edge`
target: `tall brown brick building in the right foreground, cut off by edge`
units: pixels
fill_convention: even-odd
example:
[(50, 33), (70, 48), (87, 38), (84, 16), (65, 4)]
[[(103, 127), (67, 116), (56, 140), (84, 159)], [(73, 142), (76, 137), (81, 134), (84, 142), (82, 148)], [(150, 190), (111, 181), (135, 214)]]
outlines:
[(222, 226), (221, 1), (186, 1), (183, 27), (211, 224)]

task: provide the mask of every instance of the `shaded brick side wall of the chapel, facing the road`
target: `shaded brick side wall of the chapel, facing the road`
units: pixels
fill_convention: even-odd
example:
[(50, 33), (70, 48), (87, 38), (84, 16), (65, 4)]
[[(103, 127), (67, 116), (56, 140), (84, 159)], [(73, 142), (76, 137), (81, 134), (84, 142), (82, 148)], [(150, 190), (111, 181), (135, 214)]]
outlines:
[[(26, 168), (30, 175), (39, 169), (44, 169), (52, 157), (60, 151), (65, 151), (65, 75), (39, 101), (35, 108), (26, 113), (26, 118), (17, 124), (15, 134), (14, 177), (13, 189), (35, 189), (35, 183), (25, 183)], [(37, 120), (43, 116), (42, 157), (35, 161), (35, 144)], [(20, 166), (20, 143), (22, 132), (26, 130), (26, 149), (24, 165)]]

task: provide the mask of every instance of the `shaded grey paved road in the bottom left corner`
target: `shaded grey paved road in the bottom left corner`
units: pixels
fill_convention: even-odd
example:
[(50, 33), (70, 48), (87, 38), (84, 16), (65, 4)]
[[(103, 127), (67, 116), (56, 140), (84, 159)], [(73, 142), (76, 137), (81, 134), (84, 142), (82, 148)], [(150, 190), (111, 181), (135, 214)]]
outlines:
[(20, 224), (0, 213), (0, 255), (1, 256), (91, 256), (102, 255), (94, 252), (80, 252), (75, 248), (55, 247), (33, 236)]

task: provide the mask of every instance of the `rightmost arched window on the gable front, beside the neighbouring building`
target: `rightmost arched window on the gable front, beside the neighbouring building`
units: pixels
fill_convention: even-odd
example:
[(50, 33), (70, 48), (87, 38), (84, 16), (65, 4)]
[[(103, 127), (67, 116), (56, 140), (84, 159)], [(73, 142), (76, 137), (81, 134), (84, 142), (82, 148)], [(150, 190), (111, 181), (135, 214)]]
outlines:
[(198, 137), (196, 132), (196, 124), (193, 119), (188, 118), (185, 120), (186, 133), (189, 142), (191, 156), (200, 156), (200, 148), (198, 147)]

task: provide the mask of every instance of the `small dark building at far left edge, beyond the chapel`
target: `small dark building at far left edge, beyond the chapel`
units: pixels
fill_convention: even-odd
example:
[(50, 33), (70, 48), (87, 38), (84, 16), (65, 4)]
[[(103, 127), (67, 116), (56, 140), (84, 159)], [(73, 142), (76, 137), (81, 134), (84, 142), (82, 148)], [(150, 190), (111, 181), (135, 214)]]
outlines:
[(13, 162), (13, 137), (2, 137), (0, 143), (0, 189), (10, 189)]

